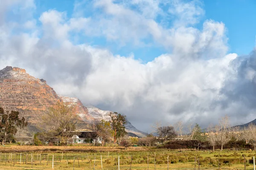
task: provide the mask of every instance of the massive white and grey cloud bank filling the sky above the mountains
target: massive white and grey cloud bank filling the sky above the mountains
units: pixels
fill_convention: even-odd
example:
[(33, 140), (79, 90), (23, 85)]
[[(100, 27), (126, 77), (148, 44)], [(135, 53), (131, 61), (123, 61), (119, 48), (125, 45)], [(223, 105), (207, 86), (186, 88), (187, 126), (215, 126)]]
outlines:
[[(6, 18), (10, 10), (0, 13), (0, 68), (25, 68), (58, 94), (123, 113), (145, 131), (155, 121), (206, 127), (224, 114), (233, 124), (254, 119), (256, 54), (227, 54), (224, 23), (195, 28), (204, 15), (200, 1), (77, 2), (71, 18), (52, 9), (33, 17), (35, 4), (25, 2), (3, 4), (27, 14), (17, 21)], [(117, 48), (156, 45), (166, 54), (144, 63), (86, 41), (99, 37)]]

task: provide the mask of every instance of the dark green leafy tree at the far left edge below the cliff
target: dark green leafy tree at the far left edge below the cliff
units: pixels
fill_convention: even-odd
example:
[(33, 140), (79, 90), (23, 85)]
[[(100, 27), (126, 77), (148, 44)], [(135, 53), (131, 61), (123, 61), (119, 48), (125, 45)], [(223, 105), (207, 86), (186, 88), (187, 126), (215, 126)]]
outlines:
[(25, 118), (19, 118), (18, 111), (6, 111), (0, 108), (0, 133), (2, 136), (2, 145), (6, 142), (7, 136), (13, 136), (17, 133), (17, 127), (24, 128), (28, 125)]

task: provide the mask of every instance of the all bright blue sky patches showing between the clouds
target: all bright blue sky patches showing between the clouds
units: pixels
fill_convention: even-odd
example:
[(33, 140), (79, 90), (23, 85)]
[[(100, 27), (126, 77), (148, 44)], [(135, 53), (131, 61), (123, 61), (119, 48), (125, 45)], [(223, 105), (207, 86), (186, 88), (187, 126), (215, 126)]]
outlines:
[[(115, 1), (118, 3), (118, 1)], [(91, 15), (90, 0), (35, 0), (37, 7), (35, 16), (40, 17), (43, 11), (49, 9), (56, 9), (57, 11), (66, 12), (67, 17), (74, 15), (74, 7), (76, 3), (82, 3), (84, 7), (84, 17)], [(236, 53), (238, 55), (249, 54), (256, 45), (256, 1), (255, 0), (204, 0), (201, 1), (204, 15), (195, 25), (196, 28), (201, 29), (205, 20), (215, 20), (223, 22), (227, 30), (228, 37), (228, 52)], [(87, 8), (89, 7), (89, 8)], [(166, 8), (168, 8), (167, 6)], [(94, 11), (95, 12), (95, 11)], [(169, 20), (172, 23), (172, 18)], [(152, 39), (146, 40), (153, 44), (150, 48), (136, 47), (136, 45), (126, 44), (125, 46), (118, 46), (116, 42), (108, 41), (105, 37), (87, 37), (82, 38), (76, 43), (87, 43), (96, 45), (102, 48), (110, 49), (113, 54), (129, 56), (134, 54), (135, 58), (140, 58), (143, 62), (148, 62), (155, 57), (168, 53), (169, 50), (163, 48), (161, 45), (154, 43)]]

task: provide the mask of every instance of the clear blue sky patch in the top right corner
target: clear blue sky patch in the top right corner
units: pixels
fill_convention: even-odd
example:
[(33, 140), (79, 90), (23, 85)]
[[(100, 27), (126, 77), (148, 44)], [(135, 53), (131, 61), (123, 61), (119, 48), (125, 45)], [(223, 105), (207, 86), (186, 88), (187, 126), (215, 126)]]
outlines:
[(230, 52), (249, 54), (255, 47), (255, 0), (205, 0), (205, 18), (223, 22)]

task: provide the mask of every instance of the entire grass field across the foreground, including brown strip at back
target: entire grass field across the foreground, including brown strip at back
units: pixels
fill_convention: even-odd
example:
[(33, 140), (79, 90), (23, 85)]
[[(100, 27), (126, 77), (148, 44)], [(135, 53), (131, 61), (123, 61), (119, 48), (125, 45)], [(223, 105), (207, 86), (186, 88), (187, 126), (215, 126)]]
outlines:
[[(0, 147), (0, 170), (253, 170), (255, 151), (163, 150), (154, 147)], [(245, 156), (245, 157), (244, 157)], [(101, 164), (102, 158), (102, 164)], [(196, 159), (196, 162), (195, 162)], [(52, 161), (53, 160), (53, 161)], [(94, 163), (95, 160), (95, 163)]]

